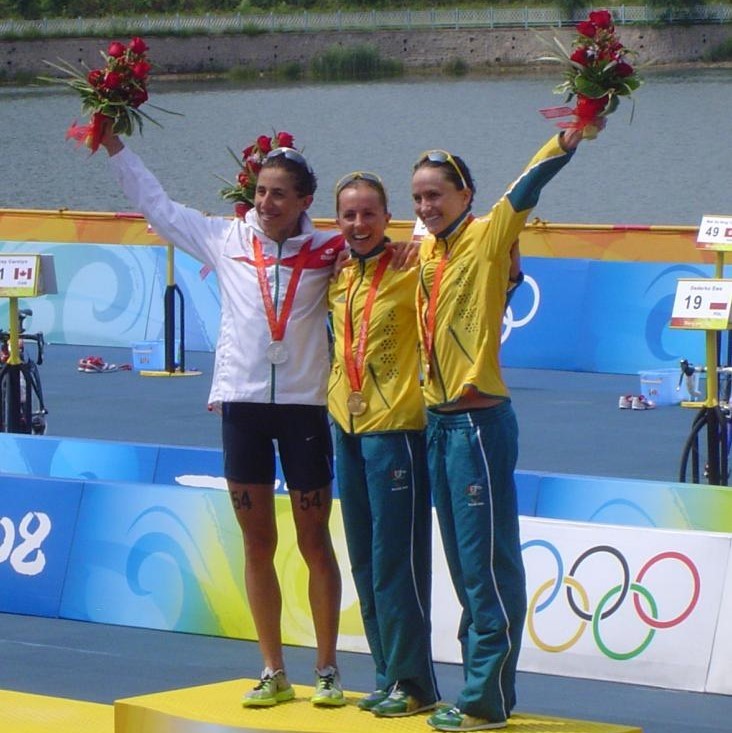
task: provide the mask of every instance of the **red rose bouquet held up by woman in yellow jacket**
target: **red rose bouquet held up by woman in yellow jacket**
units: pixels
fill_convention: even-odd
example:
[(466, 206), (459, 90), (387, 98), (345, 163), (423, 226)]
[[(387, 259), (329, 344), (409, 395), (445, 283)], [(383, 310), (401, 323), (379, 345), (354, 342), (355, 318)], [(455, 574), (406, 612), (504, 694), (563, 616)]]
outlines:
[(558, 126), (583, 130), (586, 138), (593, 138), (600, 120), (617, 109), (619, 98), (630, 97), (641, 85), (635, 69), (628, 63), (635, 52), (618, 40), (609, 10), (593, 10), (587, 20), (577, 24), (571, 51), (557, 38), (550, 45), (558, 53), (541, 60), (558, 61), (566, 67), (564, 81), (554, 92), (566, 94), (566, 102), (573, 98), (576, 101), (574, 107), (549, 107), (540, 112), (550, 119), (572, 115), (574, 120), (560, 122)]

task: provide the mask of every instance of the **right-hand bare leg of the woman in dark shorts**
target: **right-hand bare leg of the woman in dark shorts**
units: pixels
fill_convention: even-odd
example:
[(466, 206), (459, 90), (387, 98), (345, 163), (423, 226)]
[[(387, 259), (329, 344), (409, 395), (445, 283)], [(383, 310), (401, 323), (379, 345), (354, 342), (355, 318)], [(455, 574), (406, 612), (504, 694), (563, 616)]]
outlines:
[(330, 484), (313, 491), (290, 488), (297, 545), (308, 567), (308, 595), (318, 646), (316, 667), (336, 666), (336, 642), (341, 609), (341, 574), (328, 521)]

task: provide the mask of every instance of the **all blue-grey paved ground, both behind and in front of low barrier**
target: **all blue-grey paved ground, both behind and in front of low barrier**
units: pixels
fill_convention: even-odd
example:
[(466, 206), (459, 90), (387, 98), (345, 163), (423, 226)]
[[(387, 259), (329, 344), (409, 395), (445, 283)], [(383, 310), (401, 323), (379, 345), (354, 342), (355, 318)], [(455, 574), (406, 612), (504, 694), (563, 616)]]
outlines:
[[(128, 350), (51, 346), (42, 367), (54, 435), (216, 447), (218, 420), (206, 411), (210, 354), (189, 354), (202, 376), (145, 378), (84, 374), (80, 357), (129, 362)], [(520, 468), (674, 480), (692, 415), (678, 407), (618, 410), (637, 375), (508, 370), (521, 425)], [(1, 592), (1, 590), (0, 590)], [(308, 684), (312, 650), (287, 652), (290, 676)], [(370, 689), (368, 656), (341, 655), (344, 682)], [(96, 702), (210, 682), (256, 677), (251, 642), (0, 614), (0, 689)], [(443, 697), (461, 685), (456, 665), (438, 665)], [(646, 733), (723, 733), (732, 698), (575, 678), (519, 674), (519, 709), (642, 726)]]

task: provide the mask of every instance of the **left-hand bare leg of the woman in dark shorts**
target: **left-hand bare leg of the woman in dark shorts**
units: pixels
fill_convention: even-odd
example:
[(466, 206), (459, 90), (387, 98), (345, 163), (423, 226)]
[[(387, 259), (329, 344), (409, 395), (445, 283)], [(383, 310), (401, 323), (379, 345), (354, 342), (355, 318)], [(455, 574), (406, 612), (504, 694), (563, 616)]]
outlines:
[(274, 487), (228, 481), (229, 495), (244, 537), (244, 585), (257, 629), (264, 666), (284, 669), (282, 593), (274, 565), (277, 522)]

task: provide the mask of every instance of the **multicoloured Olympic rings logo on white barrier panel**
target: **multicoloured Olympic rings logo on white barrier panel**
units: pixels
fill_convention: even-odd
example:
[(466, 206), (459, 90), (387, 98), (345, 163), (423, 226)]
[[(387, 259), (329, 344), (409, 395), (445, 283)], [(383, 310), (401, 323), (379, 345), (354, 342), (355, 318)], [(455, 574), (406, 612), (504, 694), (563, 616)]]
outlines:
[[(595, 545), (582, 552), (572, 563), (567, 575), (564, 574), (564, 562), (557, 548), (546, 540), (529, 540), (521, 545), (521, 550), (531, 547), (541, 547), (548, 550), (556, 562), (557, 572), (554, 578), (541, 583), (533, 592), (528, 604), (526, 614), (526, 630), (534, 644), (546, 652), (563, 652), (573, 647), (585, 633), (586, 629), (592, 629), (592, 635), (597, 648), (610, 659), (625, 661), (633, 659), (642, 654), (653, 640), (656, 631), (670, 629), (683, 623), (692, 613), (699, 600), (701, 590), (701, 578), (699, 570), (693, 561), (681, 552), (668, 551), (659, 552), (647, 560), (641, 569), (631, 580), (630, 567), (625, 556), (615, 547), (610, 545)], [(591, 607), (590, 596), (585, 586), (577, 579), (580, 566), (594, 555), (605, 554), (616, 562), (620, 570), (620, 582), (609, 588), (600, 600)], [(690, 582), (690, 594), (685, 607), (669, 618), (661, 618), (656, 598), (651, 590), (643, 585), (649, 572), (661, 563), (680, 563), (682, 570), (688, 572)], [(566, 603), (569, 610), (577, 618), (578, 623), (574, 630), (569, 631), (566, 639), (550, 643), (540, 638), (537, 630), (537, 617), (546, 611), (557, 599), (560, 591), (566, 587)], [(640, 643), (632, 649), (618, 651), (611, 649), (603, 637), (601, 622), (608, 619), (621, 609), (629, 594), (632, 596), (632, 608), (640, 621), (647, 627), (647, 632)]]

